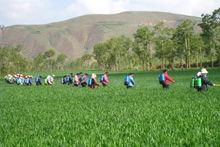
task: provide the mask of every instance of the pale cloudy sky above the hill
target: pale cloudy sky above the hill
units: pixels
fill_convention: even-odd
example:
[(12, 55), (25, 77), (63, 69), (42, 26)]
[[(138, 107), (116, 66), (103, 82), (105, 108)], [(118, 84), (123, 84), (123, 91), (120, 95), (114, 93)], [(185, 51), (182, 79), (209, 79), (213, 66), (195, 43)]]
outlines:
[(220, 0), (0, 0), (0, 25), (46, 24), (86, 14), (162, 11), (211, 14)]

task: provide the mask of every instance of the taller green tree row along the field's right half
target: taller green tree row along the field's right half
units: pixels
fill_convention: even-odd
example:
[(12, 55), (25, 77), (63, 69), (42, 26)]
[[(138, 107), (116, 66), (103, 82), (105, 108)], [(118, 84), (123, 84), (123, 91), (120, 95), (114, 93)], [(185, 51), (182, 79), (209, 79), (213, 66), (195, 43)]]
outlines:
[(220, 65), (220, 8), (202, 15), (200, 24), (185, 20), (177, 28), (140, 27), (133, 39), (112, 38), (96, 44), (93, 53), (98, 67), (112, 70)]

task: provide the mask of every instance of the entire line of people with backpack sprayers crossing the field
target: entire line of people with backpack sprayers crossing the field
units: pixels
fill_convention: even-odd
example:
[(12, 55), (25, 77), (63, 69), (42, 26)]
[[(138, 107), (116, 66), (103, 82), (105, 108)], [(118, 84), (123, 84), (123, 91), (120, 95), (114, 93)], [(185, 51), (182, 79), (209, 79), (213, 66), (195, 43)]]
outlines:
[[(208, 90), (209, 86), (215, 86), (214, 83), (208, 80), (208, 71), (205, 68), (202, 68), (191, 80), (190, 86), (197, 89), (197, 91), (205, 91)], [(54, 84), (55, 75), (48, 75), (45, 80), (45, 85), (53, 85)], [(37, 86), (42, 85), (42, 77), (40, 75), (35, 76), (34, 81)], [(169, 88), (169, 82), (175, 83), (175, 81), (168, 75), (167, 70), (163, 70), (162, 73), (159, 74), (159, 83), (162, 85), (163, 89)], [(33, 76), (31, 75), (23, 75), (23, 74), (8, 74), (5, 76), (5, 80), (9, 84), (17, 84), (17, 85), (26, 85), (31, 86)], [(99, 87), (99, 83), (96, 80), (96, 74), (93, 73), (89, 75), (88, 73), (70, 73), (69, 75), (65, 75), (62, 78), (62, 84), (73, 85), (76, 87), (90, 87), (92, 89)], [(99, 77), (99, 82), (105, 87), (109, 84), (108, 72), (104, 72)], [(124, 77), (124, 85), (127, 88), (132, 88), (135, 85), (134, 74), (129, 73)]]

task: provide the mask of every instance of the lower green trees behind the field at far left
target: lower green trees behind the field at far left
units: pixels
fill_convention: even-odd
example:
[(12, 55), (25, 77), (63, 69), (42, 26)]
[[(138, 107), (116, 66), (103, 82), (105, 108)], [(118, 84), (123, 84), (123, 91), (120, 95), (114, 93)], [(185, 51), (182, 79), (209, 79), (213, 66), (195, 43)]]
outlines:
[(49, 49), (33, 60), (25, 58), (21, 46), (0, 47), (0, 75), (25, 71), (61, 70), (65, 67), (66, 55)]

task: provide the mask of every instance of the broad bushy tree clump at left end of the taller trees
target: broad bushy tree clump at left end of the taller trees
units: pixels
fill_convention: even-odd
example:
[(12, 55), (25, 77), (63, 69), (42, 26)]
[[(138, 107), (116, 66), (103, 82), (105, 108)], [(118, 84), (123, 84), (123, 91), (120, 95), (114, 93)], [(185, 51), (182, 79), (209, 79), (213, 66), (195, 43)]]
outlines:
[(102, 69), (119, 70), (125, 68), (128, 61), (131, 39), (120, 36), (94, 46), (94, 58)]

